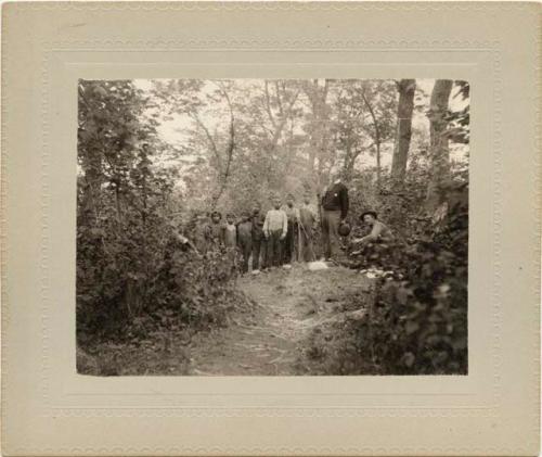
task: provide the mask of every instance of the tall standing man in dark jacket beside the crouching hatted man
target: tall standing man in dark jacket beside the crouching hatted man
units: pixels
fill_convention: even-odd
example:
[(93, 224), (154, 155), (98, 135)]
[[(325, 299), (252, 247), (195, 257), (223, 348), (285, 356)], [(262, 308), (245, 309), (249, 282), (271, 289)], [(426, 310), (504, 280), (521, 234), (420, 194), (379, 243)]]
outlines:
[(333, 181), (322, 196), (322, 238), (326, 261), (340, 256), (338, 228), (348, 215), (348, 188), (340, 178)]

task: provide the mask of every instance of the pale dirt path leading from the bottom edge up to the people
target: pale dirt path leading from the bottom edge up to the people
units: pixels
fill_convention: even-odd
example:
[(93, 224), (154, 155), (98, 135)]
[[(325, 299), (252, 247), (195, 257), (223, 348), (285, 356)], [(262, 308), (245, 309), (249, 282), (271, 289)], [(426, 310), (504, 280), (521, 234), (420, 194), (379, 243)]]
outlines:
[(238, 288), (253, 302), (253, 313), (193, 339), (190, 373), (300, 375), (298, 357), (310, 330), (334, 318), (346, 293), (369, 287), (363, 275), (343, 267), (310, 271), (297, 265), (241, 278)]

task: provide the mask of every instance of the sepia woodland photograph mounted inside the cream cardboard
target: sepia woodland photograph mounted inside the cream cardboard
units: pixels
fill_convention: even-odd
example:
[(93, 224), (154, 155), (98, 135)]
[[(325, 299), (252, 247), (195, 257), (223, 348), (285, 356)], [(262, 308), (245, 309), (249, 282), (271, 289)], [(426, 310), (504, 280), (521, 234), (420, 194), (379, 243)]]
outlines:
[(77, 372), (467, 375), (469, 84), (78, 84)]

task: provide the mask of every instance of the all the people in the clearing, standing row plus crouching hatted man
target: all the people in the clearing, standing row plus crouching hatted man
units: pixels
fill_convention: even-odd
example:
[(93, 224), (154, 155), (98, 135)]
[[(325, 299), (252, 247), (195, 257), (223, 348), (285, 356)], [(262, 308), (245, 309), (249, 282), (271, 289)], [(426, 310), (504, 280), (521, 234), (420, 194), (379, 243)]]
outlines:
[[(338, 259), (341, 255), (341, 226), (346, 224), (349, 211), (347, 187), (335, 180), (323, 193), (318, 195), (319, 211), (312, 204), (311, 193), (305, 192), (300, 204), (288, 194), (283, 204), (279, 195), (271, 199), (272, 207), (266, 214), (260, 205), (251, 212), (245, 211), (237, 219), (232, 213), (225, 215), (215, 211), (210, 220), (198, 220), (195, 229), (195, 246), (201, 253), (210, 249), (223, 249), (235, 263), (241, 254), (241, 271), (250, 270), (258, 275), (262, 270), (282, 267), (292, 268), (292, 263), (312, 262), (317, 228), (321, 226), (321, 246), (325, 261)], [(362, 219), (372, 226), (366, 237), (353, 240), (359, 244), (376, 241), (390, 234), (389, 229), (377, 221), (374, 212), (366, 212)]]

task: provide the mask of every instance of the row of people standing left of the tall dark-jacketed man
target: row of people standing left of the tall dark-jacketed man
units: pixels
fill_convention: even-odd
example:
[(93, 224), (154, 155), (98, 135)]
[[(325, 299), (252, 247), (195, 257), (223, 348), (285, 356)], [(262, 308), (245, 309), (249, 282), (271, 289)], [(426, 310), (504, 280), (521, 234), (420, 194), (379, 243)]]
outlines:
[(251, 213), (243, 212), (238, 220), (230, 213), (222, 221), (222, 215), (215, 211), (209, 223), (196, 227), (197, 250), (204, 253), (209, 249), (225, 249), (233, 258), (238, 252), (243, 272), (248, 272), (251, 257), (254, 275), (268, 268), (291, 268), (296, 258), (312, 262), (314, 230), (319, 220), (310, 193), (304, 194), (299, 206), (292, 194), (287, 195), (284, 205), (281, 198), (273, 196), (272, 205), (266, 215), (256, 205)]

